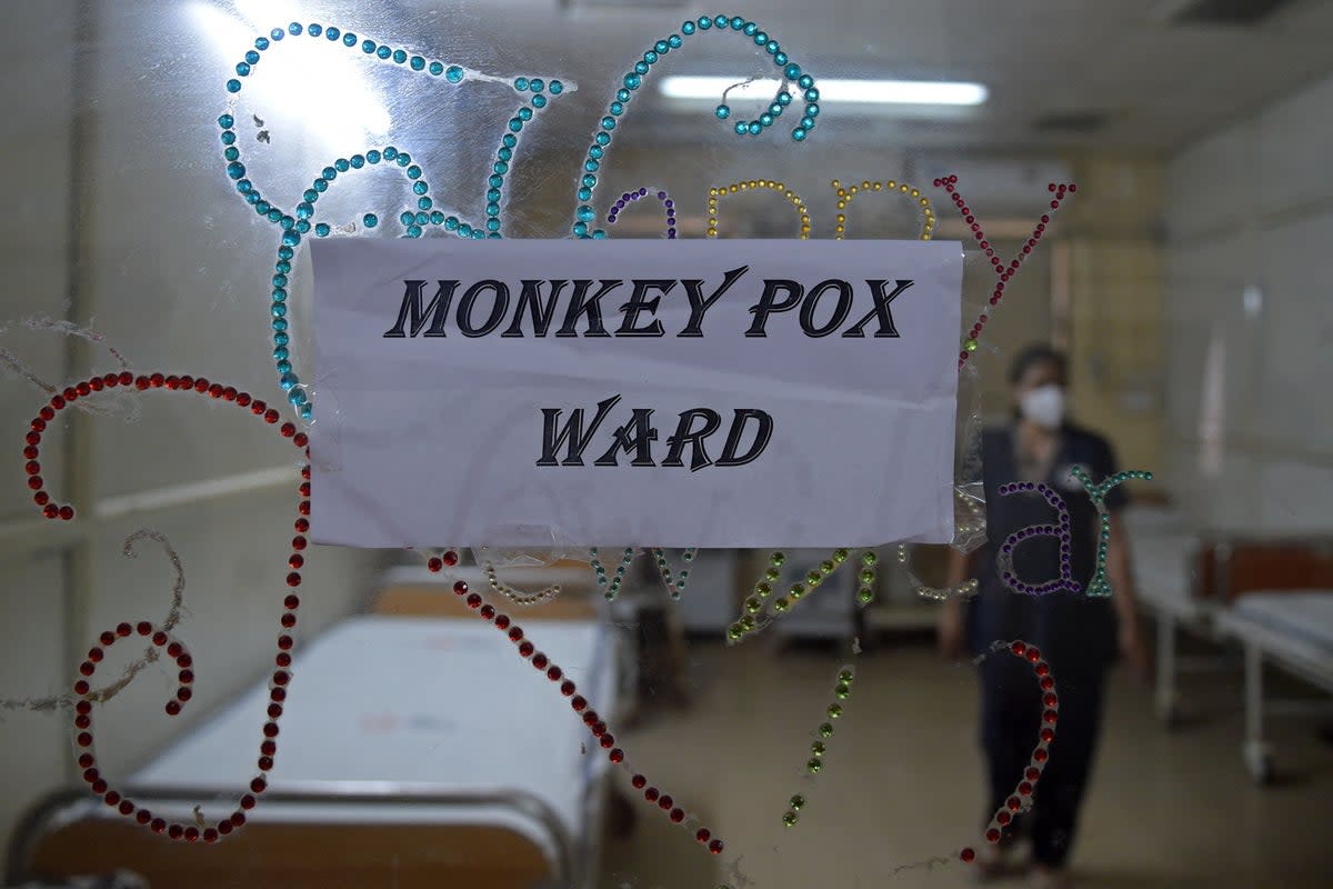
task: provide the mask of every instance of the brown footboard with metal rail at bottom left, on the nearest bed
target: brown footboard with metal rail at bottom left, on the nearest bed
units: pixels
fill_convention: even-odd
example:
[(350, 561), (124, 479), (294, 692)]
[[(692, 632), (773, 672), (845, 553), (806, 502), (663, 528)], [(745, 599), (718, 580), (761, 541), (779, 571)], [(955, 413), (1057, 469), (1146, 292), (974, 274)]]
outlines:
[[(188, 809), (217, 789), (128, 790), (155, 810)], [(373, 806), (411, 805), (423, 810), (505, 806), (539, 822), (560, 840), (552, 868), (528, 837), (484, 825), (429, 825), (353, 820)], [(329, 822), (265, 820), (265, 810), (319, 808)], [(15, 830), (9, 844), (11, 885), (31, 880), (60, 881), (79, 874), (129, 870), (153, 889), (191, 886), (288, 886), (353, 889), (393, 885), (400, 889), (477, 886), (481, 889), (555, 889), (579, 885), (581, 862), (555, 813), (523, 793), (439, 794), (411, 788), (321, 786), (265, 794), (244, 830), (216, 846), (168, 842), (111, 814), (85, 790), (47, 797)]]

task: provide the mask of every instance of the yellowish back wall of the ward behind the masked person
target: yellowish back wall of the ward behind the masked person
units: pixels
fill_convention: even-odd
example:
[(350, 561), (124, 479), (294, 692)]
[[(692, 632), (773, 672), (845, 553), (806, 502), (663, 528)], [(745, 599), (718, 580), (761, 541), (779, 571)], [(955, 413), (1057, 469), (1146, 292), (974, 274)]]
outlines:
[[(673, 159), (677, 160), (677, 159)], [(996, 159), (960, 159), (958, 163), (985, 164)], [(897, 179), (924, 185), (940, 224), (937, 235), (972, 243), (945, 195), (930, 188), (921, 172), (937, 161), (934, 153), (921, 157), (892, 151), (876, 152), (873, 163), (860, 148), (833, 148), (812, 165), (790, 153), (764, 156), (761, 161), (726, 148), (710, 147), (696, 161), (664, 164), (652, 151), (621, 148), (611, 165), (612, 192), (637, 185), (668, 188), (682, 208), (684, 236), (700, 237), (705, 219), (705, 196), (680, 191), (697, 183), (702, 168), (708, 181), (724, 184), (737, 179), (777, 179), (797, 191), (814, 223), (812, 237), (830, 237), (837, 208), (828, 180), (845, 184), (862, 179)], [(1018, 161), (1022, 163), (1021, 159)], [(1100, 153), (1058, 152), (1054, 163), (1030, 160), (1033, 171), (1068, 171), (1080, 184), (1052, 225), (1052, 236), (1024, 264), (1022, 273), (1006, 291), (1000, 311), (988, 309), (981, 348), (973, 356), (976, 376), (965, 376), (960, 391), (960, 416), (974, 405), (988, 421), (1009, 411), (1008, 365), (1013, 355), (1032, 343), (1054, 341), (1070, 356), (1070, 399), (1076, 419), (1109, 437), (1122, 468), (1153, 469), (1161, 474), (1164, 458), (1164, 332), (1162, 332), (1162, 164), (1148, 157), (1120, 157)], [(716, 172), (713, 172), (716, 171)], [(1013, 173), (1008, 173), (1013, 176)], [(1050, 175), (1058, 175), (1052, 172)], [(976, 180), (976, 176), (973, 177)], [(1005, 192), (976, 201), (980, 220), (1002, 256), (1016, 256), (1037, 219), (1048, 208), (1046, 179), (1034, 180), (1030, 191)], [(559, 205), (567, 200), (556, 177), (545, 183), (543, 197)], [(968, 189), (982, 192), (981, 184)], [(989, 197), (989, 200), (986, 200)], [(635, 215), (637, 213), (637, 216)], [(909, 208), (885, 196), (858, 197), (848, 209), (848, 237), (912, 237), (917, 231)], [(770, 193), (724, 199), (718, 217), (722, 236), (792, 236), (796, 219), (789, 205)], [(640, 228), (641, 225), (641, 228)], [(635, 228), (636, 236), (656, 236), (661, 219), (652, 211), (627, 213), (621, 228)], [(993, 275), (980, 251), (968, 251), (964, 285), (964, 325), (970, 325), (986, 305)], [(974, 400), (976, 399), (976, 400)], [(1157, 482), (1130, 482), (1134, 497), (1164, 494)], [(926, 548), (922, 548), (926, 549)], [(918, 556), (924, 572), (930, 572), (932, 554)], [(900, 580), (890, 572), (886, 582)]]

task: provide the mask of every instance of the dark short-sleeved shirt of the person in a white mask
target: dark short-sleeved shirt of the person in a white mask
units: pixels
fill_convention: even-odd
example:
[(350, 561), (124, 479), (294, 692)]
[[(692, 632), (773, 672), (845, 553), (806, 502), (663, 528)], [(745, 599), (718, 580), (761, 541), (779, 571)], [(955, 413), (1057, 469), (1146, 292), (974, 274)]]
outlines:
[[(1058, 522), (1054, 506), (1036, 492), (1000, 494), (1000, 486), (1020, 478), (1014, 452), (1013, 427), (988, 429), (981, 436), (982, 481), (986, 497), (986, 545), (981, 549), (977, 573), (978, 593), (968, 609), (968, 638), (974, 654), (986, 650), (996, 640), (1021, 638), (1037, 645), (1052, 669), (1104, 669), (1116, 658), (1116, 613), (1109, 597), (1089, 597), (1088, 582), (1097, 562), (1097, 508), (1077, 478), (1070, 476), (1080, 466), (1100, 484), (1117, 470), (1116, 457), (1105, 439), (1078, 427), (1062, 431), (1060, 453), (1045, 484), (1054, 488), (1069, 509), (1072, 537), (1070, 564), (1080, 593), (1058, 590), (1045, 596), (1014, 593), (1004, 585), (996, 570), (996, 553), (1013, 532), (1029, 525)], [(1112, 488), (1106, 508), (1124, 506), (1125, 490)], [(1029, 584), (1058, 577), (1060, 540), (1030, 537), (1013, 549), (1014, 573)], [(1114, 592), (1112, 593), (1114, 594)]]

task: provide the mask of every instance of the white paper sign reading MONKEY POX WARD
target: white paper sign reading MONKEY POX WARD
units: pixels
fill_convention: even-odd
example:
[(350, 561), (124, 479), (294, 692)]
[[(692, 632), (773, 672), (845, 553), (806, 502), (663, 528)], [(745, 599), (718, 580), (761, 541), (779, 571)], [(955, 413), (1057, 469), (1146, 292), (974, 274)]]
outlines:
[(316, 542), (946, 542), (962, 251), (312, 244)]

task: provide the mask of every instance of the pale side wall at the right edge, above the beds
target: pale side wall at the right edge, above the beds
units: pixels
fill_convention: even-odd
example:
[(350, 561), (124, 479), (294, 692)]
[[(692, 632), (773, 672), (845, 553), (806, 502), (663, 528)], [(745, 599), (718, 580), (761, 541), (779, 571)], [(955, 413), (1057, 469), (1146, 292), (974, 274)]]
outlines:
[(1170, 484), (1201, 525), (1329, 529), (1330, 112), (1326, 79), (1169, 167)]

